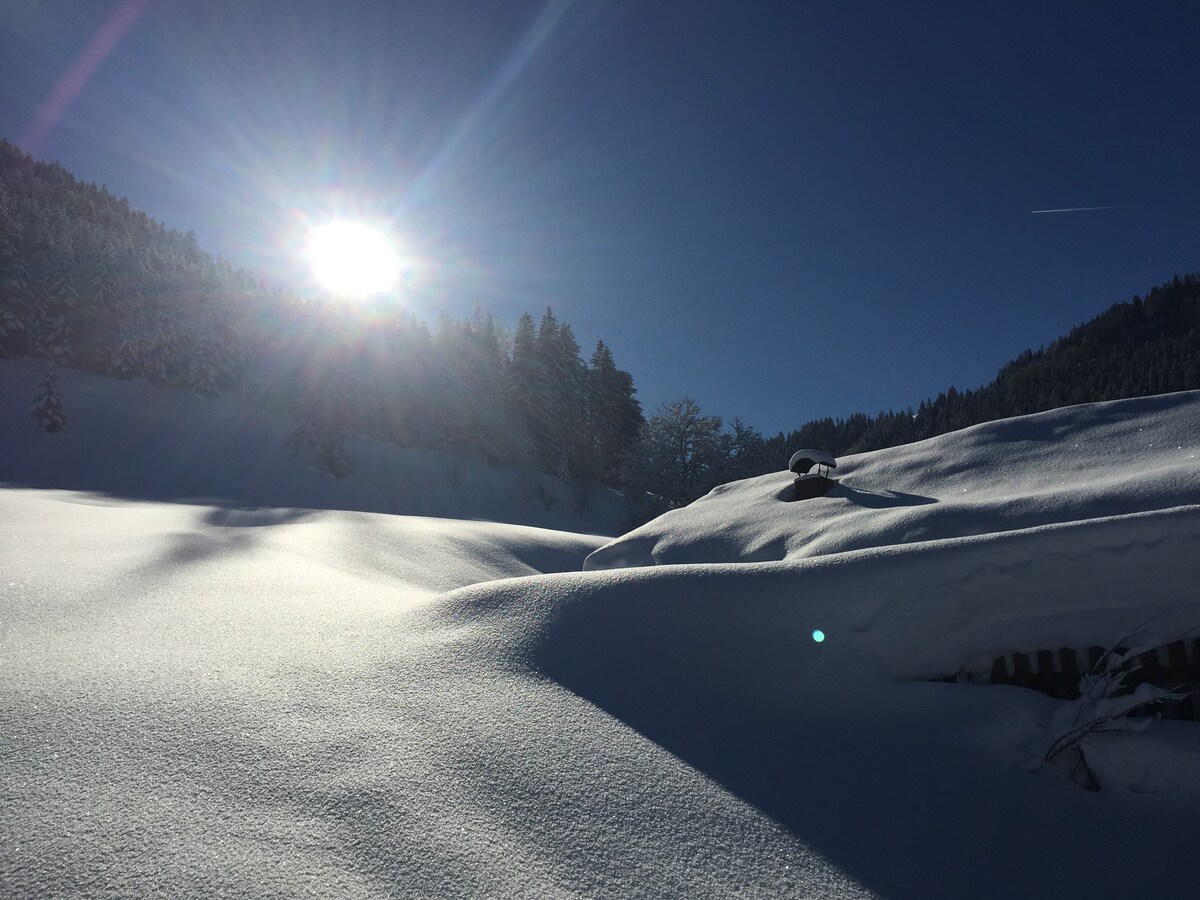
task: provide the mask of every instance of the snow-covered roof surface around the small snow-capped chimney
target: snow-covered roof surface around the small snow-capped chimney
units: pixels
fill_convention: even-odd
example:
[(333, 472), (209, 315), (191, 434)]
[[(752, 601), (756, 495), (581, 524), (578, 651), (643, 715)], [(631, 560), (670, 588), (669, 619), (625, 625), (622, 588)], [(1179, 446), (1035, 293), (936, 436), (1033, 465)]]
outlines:
[(586, 569), (794, 560), (1200, 503), (1200, 391), (1092, 403), (846, 456), (824, 497), (791, 473), (714, 488)]

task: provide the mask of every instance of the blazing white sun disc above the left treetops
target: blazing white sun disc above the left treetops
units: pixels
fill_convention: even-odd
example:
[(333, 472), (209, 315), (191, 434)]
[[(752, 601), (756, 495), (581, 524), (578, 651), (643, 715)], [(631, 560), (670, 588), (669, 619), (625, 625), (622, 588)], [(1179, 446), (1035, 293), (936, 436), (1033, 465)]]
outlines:
[(342, 296), (385, 294), (400, 278), (400, 256), (388, 235), (362, 222), (312, 227), (306, 256), (320, 286)]

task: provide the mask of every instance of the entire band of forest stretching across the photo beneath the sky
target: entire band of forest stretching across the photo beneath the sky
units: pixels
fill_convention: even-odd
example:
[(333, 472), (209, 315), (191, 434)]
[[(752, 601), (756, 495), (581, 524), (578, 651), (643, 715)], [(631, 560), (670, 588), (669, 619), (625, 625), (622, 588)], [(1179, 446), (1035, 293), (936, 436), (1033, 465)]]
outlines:
[(632, 376), (598, 341), (587, 359), (552, 308), (509, 330), (484, 308), (432, 326), (386, 299), (332, 306), (269, 286), (130, 208), (125, 198), (0, 140), (0, 358), (46, 370), (31, 402), (67, 426), (59, 371), (73, 366), (290, 414), (290, 451), (354, 470), (346, 437), (534, 466), (620, 490), (630, 523), (716, 485), (780, 470), (802, 448), (877, 450), (995, 419), (1200, 389), (1200, 277), (1116, 304), (977, 389), (914, 409), (809, 421), (764, 438), (690, 397), (644, 418)]

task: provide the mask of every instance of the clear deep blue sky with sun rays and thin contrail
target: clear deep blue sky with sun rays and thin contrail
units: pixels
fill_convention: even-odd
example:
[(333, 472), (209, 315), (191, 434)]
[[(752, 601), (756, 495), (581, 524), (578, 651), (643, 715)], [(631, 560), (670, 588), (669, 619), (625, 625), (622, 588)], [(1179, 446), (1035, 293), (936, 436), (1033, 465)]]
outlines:
[(0, 0), (0, 134), (35, 156), (278, 278), (302, 274), (298, 214), (386, 217), (418, 314), (551, 305), (648, 409), (690, 394), (773, 433), (917, 404), (1200, 269), (1192, 0)]

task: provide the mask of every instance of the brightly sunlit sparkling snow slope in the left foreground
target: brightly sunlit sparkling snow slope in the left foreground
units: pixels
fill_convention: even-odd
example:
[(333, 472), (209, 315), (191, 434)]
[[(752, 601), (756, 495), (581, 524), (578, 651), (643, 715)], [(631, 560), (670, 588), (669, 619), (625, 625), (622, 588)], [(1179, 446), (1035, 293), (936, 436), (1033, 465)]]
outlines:
[(863, 893), (442, 612), (596, 539), (17, 490), (0, 533), (5, 898)]

